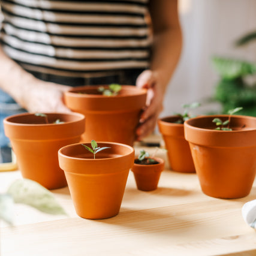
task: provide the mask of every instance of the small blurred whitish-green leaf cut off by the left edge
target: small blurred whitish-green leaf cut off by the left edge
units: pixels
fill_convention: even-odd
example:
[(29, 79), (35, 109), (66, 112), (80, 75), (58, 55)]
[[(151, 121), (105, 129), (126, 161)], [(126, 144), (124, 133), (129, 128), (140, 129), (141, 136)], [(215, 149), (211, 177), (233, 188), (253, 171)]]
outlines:
[(14, 201), (11, 195), (0, 194), (0, 219), (13, 225)]

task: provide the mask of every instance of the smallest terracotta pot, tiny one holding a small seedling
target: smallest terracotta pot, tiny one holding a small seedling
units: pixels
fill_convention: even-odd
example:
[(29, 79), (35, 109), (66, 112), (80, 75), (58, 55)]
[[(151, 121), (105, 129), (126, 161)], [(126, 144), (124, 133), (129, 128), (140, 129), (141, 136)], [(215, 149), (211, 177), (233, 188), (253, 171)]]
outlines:
[(159, 178), (164, 170), (164, 160), (153, 158), (158, 164), (134, 164), (131, 171), (134, 174), (137, 188), (142, 191), (152, 191), (158, 186)]

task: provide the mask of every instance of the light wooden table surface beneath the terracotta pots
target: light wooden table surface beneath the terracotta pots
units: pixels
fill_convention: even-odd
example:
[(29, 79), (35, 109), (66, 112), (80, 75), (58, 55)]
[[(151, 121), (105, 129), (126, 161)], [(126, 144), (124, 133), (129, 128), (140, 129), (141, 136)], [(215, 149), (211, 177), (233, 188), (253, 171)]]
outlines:
[[(158, 156), (166, 159), (165, 152)], [(221, 200), (201, 192), (196, 174), (165, 167), (151, 192), (138, 191), (130, 171), (121, 211), (110, 219), (77, 216), (67, 187), (52, 192), (68, 217), (16, 204), (15, 226), (1, 222), (1, 256), (256, 255), (256, 233), (241, 214), (256, 198), (256, 183), (248, 197)], [(1, 172), (0, 192), (20, 177)]]

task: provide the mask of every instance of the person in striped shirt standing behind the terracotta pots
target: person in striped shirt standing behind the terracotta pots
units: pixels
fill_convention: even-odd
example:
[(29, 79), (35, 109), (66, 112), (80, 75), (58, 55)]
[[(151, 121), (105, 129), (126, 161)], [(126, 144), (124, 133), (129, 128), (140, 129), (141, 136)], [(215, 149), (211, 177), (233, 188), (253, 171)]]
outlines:
[(129, 84), (148, 92), (136, 131), (142, 140), (155, 128), (179, 61), (177, 5), (177, 0), (2, 0), (1, 117), (67, 112), (62, 96), (70, 86)]

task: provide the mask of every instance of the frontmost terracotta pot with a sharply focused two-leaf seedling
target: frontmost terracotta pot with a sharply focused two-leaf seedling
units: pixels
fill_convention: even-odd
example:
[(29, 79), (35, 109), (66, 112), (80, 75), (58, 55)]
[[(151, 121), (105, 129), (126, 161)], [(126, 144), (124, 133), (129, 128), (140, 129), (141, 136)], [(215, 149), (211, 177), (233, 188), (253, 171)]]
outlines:
[[(91, 143), (83, 143), (91, 147)], [(110, 147), (96, 154), (82, 144), (59, 150), (59, 166), (64, 170), (77, 215), (86, 219), (105, 219), (119, 213), (134, 149), (120, 143), (98, 142)]]

